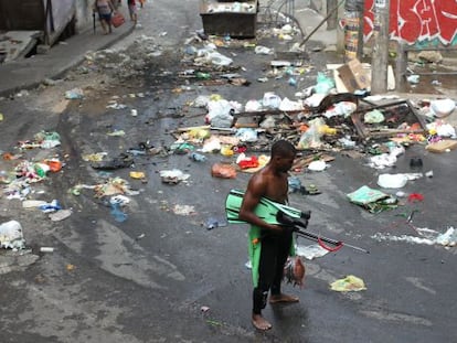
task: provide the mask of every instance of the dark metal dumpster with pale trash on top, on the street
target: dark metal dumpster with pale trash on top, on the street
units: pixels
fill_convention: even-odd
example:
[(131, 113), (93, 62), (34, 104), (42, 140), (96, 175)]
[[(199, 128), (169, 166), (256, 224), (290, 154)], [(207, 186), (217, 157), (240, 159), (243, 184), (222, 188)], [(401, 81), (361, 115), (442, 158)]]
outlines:
[(200, 15), (206, 34), (255, 37), (257, 1), (228, 2), (201, 0)]

